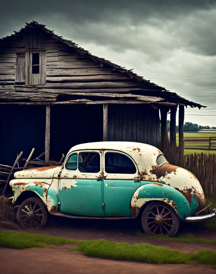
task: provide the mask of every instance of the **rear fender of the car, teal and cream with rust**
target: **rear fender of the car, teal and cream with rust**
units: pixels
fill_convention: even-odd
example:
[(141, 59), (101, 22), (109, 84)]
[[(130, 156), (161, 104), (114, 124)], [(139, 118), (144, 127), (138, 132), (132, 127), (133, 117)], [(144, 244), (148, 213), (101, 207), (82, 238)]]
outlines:
[(134, 192), (130, 203), (131, 216), (137, 217), (141, 207), (150, 201), (162, 201), (168, 204), (182, 220), (191, 215), (189, 202), (178, 190), (162, 183), (148, 183)]

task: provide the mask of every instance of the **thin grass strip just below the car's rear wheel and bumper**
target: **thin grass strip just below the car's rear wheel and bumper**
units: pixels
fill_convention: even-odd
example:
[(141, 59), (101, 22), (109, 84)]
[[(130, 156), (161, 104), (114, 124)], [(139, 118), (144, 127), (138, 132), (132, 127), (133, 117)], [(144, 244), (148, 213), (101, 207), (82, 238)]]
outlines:
[(149, 236), (145, 233), (142, 233), (140, 230), (135, 231), (137, 236), (141, 236), (147, 239), (158, 239), (170, 242), (179, 242), (179, 243), (206, 243), (209, 245), (216, 245), (216, 240), (206, 240), (203, 238), (197, 238), (191, 233), (180, 234), (175, 237), (163, 237), (163, 236)]

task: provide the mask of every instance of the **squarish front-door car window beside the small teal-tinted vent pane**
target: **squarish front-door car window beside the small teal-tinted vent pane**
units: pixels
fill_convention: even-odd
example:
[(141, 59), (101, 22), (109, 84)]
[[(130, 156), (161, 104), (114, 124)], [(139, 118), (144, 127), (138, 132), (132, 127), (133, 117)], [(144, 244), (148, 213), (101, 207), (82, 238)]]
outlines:
[(100, 171), (100, 154), (98, 152), (79, 152), (78, 169), (80, 172), (97, 173)]

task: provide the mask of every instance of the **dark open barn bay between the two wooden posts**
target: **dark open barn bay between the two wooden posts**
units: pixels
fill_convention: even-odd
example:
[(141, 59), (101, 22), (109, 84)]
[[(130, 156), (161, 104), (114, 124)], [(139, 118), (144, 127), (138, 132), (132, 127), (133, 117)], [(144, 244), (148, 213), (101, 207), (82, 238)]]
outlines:
[(102, 104), (51, 106), (50, 160), (60, 161), (62, 153), (66, 156), (77, 144), (99, 141), (103, 141)]

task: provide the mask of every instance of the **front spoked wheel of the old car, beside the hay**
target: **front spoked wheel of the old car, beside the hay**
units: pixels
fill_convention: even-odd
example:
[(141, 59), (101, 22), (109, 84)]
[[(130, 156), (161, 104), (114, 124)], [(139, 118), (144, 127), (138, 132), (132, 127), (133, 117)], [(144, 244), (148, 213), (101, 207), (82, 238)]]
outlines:
[(17, 210), (17, 222), (22, 228), (43, 228), (47, 221), (44, 203), (38, 198), (29, 198)]

